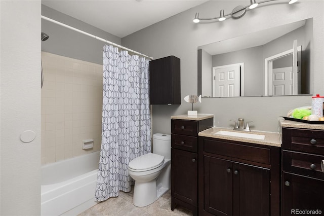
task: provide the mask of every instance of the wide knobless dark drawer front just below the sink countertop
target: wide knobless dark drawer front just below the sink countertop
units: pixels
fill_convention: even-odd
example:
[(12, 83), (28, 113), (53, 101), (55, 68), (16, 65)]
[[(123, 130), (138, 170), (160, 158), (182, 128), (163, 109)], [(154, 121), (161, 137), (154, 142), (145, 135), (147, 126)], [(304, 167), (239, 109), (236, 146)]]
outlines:
[(235, 159), (270, 164), (270, 149), (240, 145), (219, 140), (204, 140), (205, 153), (222, 155)]

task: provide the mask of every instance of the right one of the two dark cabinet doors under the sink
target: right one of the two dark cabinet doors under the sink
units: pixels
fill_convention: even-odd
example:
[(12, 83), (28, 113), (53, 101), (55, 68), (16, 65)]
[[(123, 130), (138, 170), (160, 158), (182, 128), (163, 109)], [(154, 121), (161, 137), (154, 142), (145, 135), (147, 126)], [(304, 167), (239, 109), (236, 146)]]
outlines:
[(233, 162), (233, 215), (270, 215), (270, 170)]

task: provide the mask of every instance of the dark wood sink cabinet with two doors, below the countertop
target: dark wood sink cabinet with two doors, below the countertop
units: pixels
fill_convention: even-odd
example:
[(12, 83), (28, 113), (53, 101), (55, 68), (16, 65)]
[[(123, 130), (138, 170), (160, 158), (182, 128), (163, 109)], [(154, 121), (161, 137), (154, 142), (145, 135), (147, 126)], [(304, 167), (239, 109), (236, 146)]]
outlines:
[(279, 215), (280, 148), (199, 137), (200, 157), (200, 215)]

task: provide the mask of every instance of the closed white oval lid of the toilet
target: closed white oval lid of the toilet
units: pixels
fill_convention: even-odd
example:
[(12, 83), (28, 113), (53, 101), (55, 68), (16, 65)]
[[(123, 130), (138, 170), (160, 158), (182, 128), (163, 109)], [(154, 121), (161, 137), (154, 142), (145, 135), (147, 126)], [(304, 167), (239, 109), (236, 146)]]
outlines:
[(132, 170), (147, 171), (155, 169), (164, 163), (164, 156), (147, 153), (132, 160), (128, 167)]

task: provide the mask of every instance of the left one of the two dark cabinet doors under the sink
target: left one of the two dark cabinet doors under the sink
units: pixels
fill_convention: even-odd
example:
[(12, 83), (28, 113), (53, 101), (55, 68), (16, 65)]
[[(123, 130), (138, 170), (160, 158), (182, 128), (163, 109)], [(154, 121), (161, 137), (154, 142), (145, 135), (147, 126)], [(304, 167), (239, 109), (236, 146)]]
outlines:
[(220, 216), (233, 215), (233, 162), (204, 157), (205, 210)]

